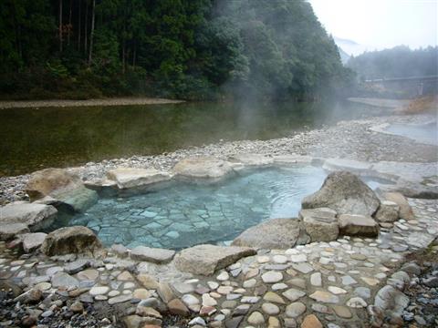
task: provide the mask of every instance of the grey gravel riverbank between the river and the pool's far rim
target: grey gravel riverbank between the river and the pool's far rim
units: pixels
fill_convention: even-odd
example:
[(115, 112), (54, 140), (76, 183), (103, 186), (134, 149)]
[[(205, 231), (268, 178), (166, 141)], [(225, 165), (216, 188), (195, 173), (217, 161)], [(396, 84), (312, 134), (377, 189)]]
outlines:
[[(70, 170), (84, 180), (93, 180), (104, 177), (109, 169), (118, 167), (170, 170), (181, 159), (201, 156), (227, 159), (242, 153), (267, 156), (297, 154), (368, 162), (433, 163), (436, 162), (438, 153), (436, 146), (373, 130), (381, 124), (420, 124), (433, 119), (435, 118), (431, 115), (412, 115), (340, 121), (335, 126), (300, 132), (288, 138), (220, 142), (203, 147), (179, 149), (157, 156), (132, 156), (126, 159), (89, 162)], [(24, 190), (28, 179), (28, 174), (0, 178), (0, 204), (13, 200), (26, 200)]]

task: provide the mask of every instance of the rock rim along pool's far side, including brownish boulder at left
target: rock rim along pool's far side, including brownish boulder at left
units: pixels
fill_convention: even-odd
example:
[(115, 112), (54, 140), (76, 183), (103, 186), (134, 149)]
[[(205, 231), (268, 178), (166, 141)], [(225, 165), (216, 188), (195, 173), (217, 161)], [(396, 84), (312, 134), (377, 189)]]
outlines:
[[(434, 163), (378, 162), (370, 163), (352, 159), (322, 159), (300, 155), (269, 157), (260, 154), (239, 154), (228, 160), (213, 157), (189, 158), (179, 161), (171, 171), (157, 169), (118, 168), (110, 169), (106, 179), (82, 183), (77, 176), (64, 169), (36, 171), (27, 183), (26, 191), (32, 202), (16, 201), (0, 208), (2, 229), (0, 239), (36, 231), (47, 221), (53, 221), (55, 207), (85, 211), (97, 200), (97, 193), (142, 192), (161, 186), (172, 179), (216, 182), (243, 169), (284, 167), (295, 164), (321, 166), (328, 171), (348, 170), (360, 176), (388, 179), (380, 191), (401, 191), (408, 197), (438, 198), (438, 191), (425, 186), (425, 177), (436, 172)], [(84, 188), (87, 187), (87, 188)], [(95, 190), (95, 191), (90, 191)]]

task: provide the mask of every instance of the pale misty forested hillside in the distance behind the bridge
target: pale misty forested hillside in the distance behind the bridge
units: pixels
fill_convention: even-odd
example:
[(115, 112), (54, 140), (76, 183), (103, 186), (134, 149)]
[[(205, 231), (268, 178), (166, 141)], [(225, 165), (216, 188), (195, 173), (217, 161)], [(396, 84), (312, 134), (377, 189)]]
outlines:
[(349, 59), (348, 67), (362, 80), (438, 75), (438, 46), (411, 50), (408, 46), (366, 52)]

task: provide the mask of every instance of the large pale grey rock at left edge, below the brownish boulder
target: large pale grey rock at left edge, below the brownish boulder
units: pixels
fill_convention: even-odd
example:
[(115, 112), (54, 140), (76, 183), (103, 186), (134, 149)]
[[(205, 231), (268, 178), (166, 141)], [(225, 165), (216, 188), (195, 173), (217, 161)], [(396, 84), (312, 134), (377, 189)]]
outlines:
[(57, 209), (51, 205), (16, 201), (2, 206), (0, 214), (0, 236), (7, 239), (15, 233), (46, 228), (57, 217)]

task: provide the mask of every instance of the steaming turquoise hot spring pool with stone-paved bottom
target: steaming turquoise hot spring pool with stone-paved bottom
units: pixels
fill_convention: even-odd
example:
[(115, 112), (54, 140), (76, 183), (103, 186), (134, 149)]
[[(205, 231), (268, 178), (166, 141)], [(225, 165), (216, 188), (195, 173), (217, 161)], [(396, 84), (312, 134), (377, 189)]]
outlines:
[(321, 168), (294, 166), (246, 171), (214, 184), (174, 181), (148, 193), (101, 198), (87, 212), (60, 218), (51, 228), (84, 225), (106, 246), (130, 248), (231, 241), (262, 220), (296, 217), (301, 200), (318, 190), (326, 176)]

